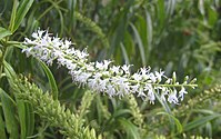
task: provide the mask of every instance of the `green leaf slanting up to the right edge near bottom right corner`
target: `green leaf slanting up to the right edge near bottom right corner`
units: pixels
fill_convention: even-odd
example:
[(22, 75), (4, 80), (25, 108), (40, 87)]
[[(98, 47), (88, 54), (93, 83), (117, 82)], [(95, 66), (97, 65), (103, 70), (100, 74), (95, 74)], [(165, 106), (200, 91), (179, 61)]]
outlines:
[(214, 113), (214, 115), (210, 115), (210, 116), (205, 116), (205, 117), (200, 117), (200, 118), (187, 123), (184, 126), (183, 130), (188, 131), (188, 130), (194, 129), (194, 128), (200, 127), (202, 125), (205, 125), (208, 121), (213, 120), (213, 119), (219, 118), (219, 117), (221, 117), (220, 113)]

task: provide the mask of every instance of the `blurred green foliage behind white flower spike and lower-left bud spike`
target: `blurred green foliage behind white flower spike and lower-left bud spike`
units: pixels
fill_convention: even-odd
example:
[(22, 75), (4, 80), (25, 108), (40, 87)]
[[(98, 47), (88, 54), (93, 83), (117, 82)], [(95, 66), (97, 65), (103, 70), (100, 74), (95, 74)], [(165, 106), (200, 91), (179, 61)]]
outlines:
[[(0, 0), (0, 27), (10, 30), (12, 8), (17, 2), (21, 7), (23, 1)], [(132, 64), (132, 72), (150, 66), (164, 70), (167, 76), (175, 71), (180, 81), (187, 75), (198, 79), (199, 87), (190, 89), (181, 105), (169, 108), (133, 97), (120, 100), (93, 96), (84, 123), (104, 139), (221, 137), (220, 0), (33, 0), (24, 7), (27, 14), (20, 22), (18, 19), (10, 40), (22, 42), (39, 28), (48, 29), (69, 38), (80, 50), (87, 48), (90, 61), (111, 59), (115, 64)], [(42, 90), (50, 89), (37, 60), (26, 58), (17, 48), (6, 59), (17, 73), (26, 75)], [(86, 89), (72, 83), (64, 68), (58, 69), (54, 63), (50, 70), (60, 102), (78, 112)], [(6, 81), (0, 83), (10, 90)], [(33, 135), (64, 138), (40, 119), (36, 120)]]

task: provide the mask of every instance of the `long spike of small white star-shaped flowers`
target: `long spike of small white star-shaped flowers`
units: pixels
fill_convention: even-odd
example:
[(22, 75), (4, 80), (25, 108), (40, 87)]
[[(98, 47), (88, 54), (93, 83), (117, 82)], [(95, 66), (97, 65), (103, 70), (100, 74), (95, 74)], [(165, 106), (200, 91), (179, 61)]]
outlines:
[(50, 37), (48, 31), (38, 30), (32, 33), (33, 40), (26, 38), (24, 44), (32, 46), (23, 49), (27, 56), (32, 56), (48, 64), (54, 60), (59, 66), (67, 67), (73, 82), (87, 86), (97, 92), (106, 92), (109, 97), (123, 97), (137, 93), (144, 100), (154, 103), (157, 96), (162, 101), (179, 103), (188, 93), (185, 87), (197, 87), (194, 81), (183, 83), (175, 81), (175, 73), (168, 78), (164, 71), (151, 72), (150, 68), (141, 68), (138, 72), (130, 72), (130, 64), (114, 66), (110, 60), (89, 62), (86, 50), (72, 47), (71, 41)]

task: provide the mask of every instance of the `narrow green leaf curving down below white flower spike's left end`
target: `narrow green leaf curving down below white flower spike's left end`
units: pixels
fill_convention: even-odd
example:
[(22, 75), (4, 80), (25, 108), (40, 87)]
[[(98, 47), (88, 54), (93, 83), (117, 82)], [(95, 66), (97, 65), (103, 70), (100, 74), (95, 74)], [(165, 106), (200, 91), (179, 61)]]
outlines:
[(57, 87), (56, 80), (53, 78), (53, 75), (50, 71), (50, 69), (46, 66), (44, 62), (40, 61), (40, 63), (41, 63), (44, 72), (46, 72), (46, 75), (48, 77), (53, 99), (57, 100), (58, 99), (58, 87)]

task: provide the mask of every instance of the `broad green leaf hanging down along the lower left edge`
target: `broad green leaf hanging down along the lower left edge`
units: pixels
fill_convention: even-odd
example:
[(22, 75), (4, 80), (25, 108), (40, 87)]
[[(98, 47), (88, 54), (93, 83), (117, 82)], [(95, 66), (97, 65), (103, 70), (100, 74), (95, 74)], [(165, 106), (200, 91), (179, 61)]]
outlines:
[(12, 98), (8, 96), (1, 88), (0, 88), (0, 97), (2, 102), (7, 131), (10, 135), (10, 139), (18, 139), (19, 126), (16, 119), (14, 102), (12, 101)]

